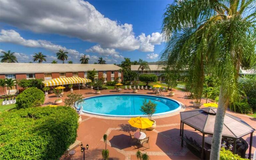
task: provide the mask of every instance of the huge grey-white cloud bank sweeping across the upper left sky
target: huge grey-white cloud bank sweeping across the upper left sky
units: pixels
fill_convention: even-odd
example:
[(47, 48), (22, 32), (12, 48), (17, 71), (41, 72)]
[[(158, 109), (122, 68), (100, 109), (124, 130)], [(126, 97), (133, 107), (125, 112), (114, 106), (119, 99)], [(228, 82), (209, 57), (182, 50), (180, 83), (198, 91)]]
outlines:
[[(151, 36), (145, 36), (145, 34), (135, 36), (132, 24), (120, 24), (104, 17), (93, 5), (83, 0), (66, 0), (61, 3), (57, 0), (0, 0), (0, 6), (2, 22), (37, 33), (77, 37), (85, 41), (96, 42), (103, 48), (128, 51), (137, 49), (143, 52), (154, 51), (154, 45), (161, 43), (160, 33), (152, 33)], [(20, 42), (23, 39), (15, 41)], [(28, 46), (44, 44), (44, 42), (34, 40), (26, 42), (29, 43)]]

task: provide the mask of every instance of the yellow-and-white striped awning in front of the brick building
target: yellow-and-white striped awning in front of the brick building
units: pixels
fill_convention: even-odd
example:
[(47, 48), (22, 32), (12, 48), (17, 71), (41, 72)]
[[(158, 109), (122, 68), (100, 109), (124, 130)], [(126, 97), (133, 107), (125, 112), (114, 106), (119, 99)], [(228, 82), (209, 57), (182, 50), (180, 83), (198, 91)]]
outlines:
[(64, 84), (77, 84), (77, 83), (87, 83), (92, 82), (90, 79), (85, 79), (81, 77), (64, 77), (64, 78), (54, 78), (51, 80), (43, 81), (44, 86), (58, 86)]

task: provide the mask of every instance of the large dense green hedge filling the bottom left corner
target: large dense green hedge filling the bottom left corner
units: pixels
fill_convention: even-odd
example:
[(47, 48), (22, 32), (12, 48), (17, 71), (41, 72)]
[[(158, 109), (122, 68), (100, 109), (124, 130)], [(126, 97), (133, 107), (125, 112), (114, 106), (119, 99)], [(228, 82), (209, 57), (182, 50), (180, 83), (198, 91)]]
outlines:
[(75, 142), (78, 115), (70, 107), (36, 107), (0, 114), (0, 159), (56, 160)]

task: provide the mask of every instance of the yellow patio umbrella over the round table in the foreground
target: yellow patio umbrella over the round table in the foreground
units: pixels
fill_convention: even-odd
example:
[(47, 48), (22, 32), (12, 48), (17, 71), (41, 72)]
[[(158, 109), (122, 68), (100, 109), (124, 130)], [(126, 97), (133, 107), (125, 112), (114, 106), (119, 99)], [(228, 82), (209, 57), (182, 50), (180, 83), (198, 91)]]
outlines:
[(148, 118), (143, 118), (143, 117), (131, 118), (128, 122), (131, 126), (140, 128), (140, 129), (149, 128), (154, 123), (153, 121), (150, 121)]

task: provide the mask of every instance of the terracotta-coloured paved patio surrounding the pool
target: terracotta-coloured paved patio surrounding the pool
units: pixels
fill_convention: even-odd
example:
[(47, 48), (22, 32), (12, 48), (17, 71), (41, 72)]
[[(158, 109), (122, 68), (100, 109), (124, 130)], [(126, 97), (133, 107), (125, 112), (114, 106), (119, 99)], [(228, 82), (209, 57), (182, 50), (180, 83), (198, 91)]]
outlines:
[[(94, 90), (76, 90), (84, 97), (95, 96)], [(120, 94), (114, 90), (104, 90), (102, 94)], [(123, 90), (122, 93), (132, 93), (132, 90)], [(67, 94), (67, 93), (65, 93)], [(150, 94), (152, 91), (139, 90), (138, 94)], [(163, 92), (162, 92), (163, 94)], [(164, 92), (167, 95), (167, 92)], [(66, 95), (62, 97), (63, 101)], [(186, 106), (186, 110), (193, 109), (193, 101), (186, 98), (186, 93), (183, 91), (175, 91), (175, 96), (171, 97), (177, 101), (182, 102)], [(52, 104), (56, 97), (51, 94), (46, 98), (45, 104)], [(204, 100), (203, 100), (204, 101)], [(64, 104), (64, 103), (63, 103)], [(183, 109), (184, 110), (184, 109)], [(256, 128), (255, 120), (247, 115), (232, 113), (237, 117), (242, 118), (252, 127)], [(168, 160), (168, 159), (199, 159), (194, 156), (186, 147), (180, 146), (180, 115), (179, 112), (173, 113), (168, 117), (154, 118), (157, 127), (153, 131), (146, 131), (149, 139), (149, 149), (145, 152), (150, 156), (151, 160)], [(85, 151), (86, 160), (101, 160), (102, 149), (105, 148), (103, 135), (107, 134), (107, 149), (109, 150), (110, 159), (113, 160), (136, 160), (135, 153), (137, 150), (144, 152), (141, 146), (128, 144), (129, 132), (134, 134), (138, 131), (132, 128), (127, 120), (120, 118), (108, 118), (100, 116), (91, 116), (88, 114), (82, 115), (82, 121), (79, 124), (77, 131), (77, 140), (83, 142), (84, 145), (89, 144), (89, 150)], [(184, 134), (192, 136), (197, 142), (201, 142), (201, 134), (194, 131), (194, 129), (184, 126)], [(249, 135), (243, 137), (249, 143)], [(148, 147), (148, 145), (145, 145)], [(256, 150), (256, 135), (254, 135), (252, 153)], [(76, 157), (74, 160), (83, 159), (80, 148), (76, 148)], [(248, 150), (247, 150), (248, 154)]]

